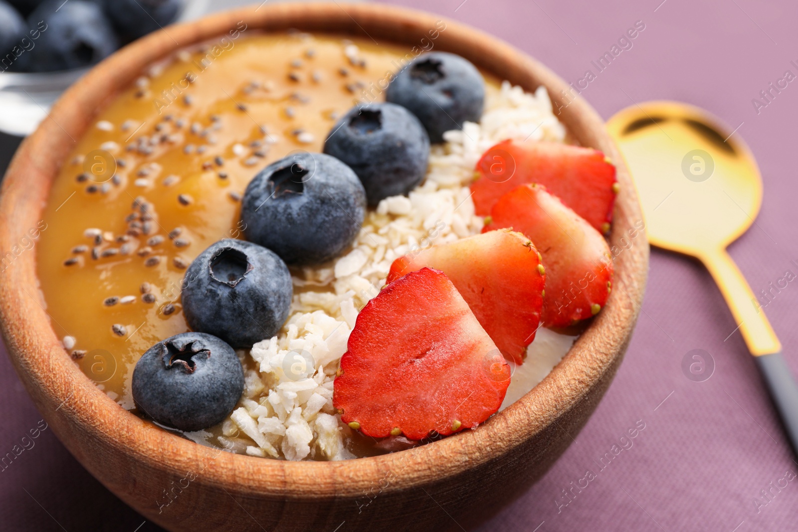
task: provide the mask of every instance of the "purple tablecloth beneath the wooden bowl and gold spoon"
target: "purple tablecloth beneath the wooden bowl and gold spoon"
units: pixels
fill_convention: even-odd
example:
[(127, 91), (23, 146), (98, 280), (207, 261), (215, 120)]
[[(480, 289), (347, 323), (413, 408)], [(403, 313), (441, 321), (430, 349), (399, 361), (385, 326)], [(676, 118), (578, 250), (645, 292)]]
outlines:
[[(707, 108), (731, 128), (742, 124), (737, 135), (757, 155), (764, 206), (730, 252), (759, 294), (787, 270), (798, 274), (798, 84), (772, 92), (769, 103), (760, 97), (786, 70), (798, 75), (798, 4), (660, 2), (393, 3), (496, 34), (573, 82), (642, 21), (631, 48), (625, 44), (583, 96), (605, 118), (633, 101), (672, 99)], [(755, 98), (768, 104), (757, 109)], [(790, 282), (765, 310), (798, 373), (796, 309), (798, 285)], [(735, 326), (700, 264), (654, 250), (638, 328), (595, 415), (535, 487), (479, 530), (796, 530), (798, 464)], [(692, 349), (712, 357), (709, 380), (682, 372)], [(5, 454), (40, 420), (6, 357), (0, 404)], [(634, 439), (622, 439), (635, 427)], [(52, 432), (34, 441), (0, 472), (0, 528), (158, 530), (84, 471)]]

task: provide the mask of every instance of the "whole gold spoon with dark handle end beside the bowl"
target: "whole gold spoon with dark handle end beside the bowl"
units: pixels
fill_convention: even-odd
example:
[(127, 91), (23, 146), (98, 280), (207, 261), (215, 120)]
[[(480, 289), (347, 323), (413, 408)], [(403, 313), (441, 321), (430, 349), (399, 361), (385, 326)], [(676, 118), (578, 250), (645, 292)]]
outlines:
[(674, 101), (622, 109), (607, 128), (634, 177), (649, 241), (698, 258), (712, 274), (798, 454), (798, 386), (768, 318), (726, 252), (762, 203), (762, 179), (748, 146), (709, 112)]

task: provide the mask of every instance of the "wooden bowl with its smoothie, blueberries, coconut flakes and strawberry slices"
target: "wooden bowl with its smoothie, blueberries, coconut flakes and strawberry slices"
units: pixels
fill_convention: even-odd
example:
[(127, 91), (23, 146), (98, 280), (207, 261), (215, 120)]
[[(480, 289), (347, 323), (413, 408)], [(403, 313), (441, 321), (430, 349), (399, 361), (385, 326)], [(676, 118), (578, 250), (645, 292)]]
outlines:
[(587, 420), (645, 282), (634, 190), (563, 86), (377, 6), (120, 51), (4, 183), (3, 333), (39, 408), (170, 530), (490, 513)]

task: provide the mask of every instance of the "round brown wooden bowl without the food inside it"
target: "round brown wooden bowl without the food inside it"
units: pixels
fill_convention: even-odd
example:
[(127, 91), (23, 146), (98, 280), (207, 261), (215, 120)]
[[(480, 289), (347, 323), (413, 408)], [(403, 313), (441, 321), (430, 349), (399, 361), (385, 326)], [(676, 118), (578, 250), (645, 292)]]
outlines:
[[(0, 198), (5, 256), (36, 227), (49, 187), (97, 110), (153, 61), (180, 45), (251, 29), (365, 33), (417, 45), (440, 18), (368, 4), (264, 4), (154, 33), (73, 85), (19, 148)], [(538, 62), (477, 30), (446, 22), (436, 49), (467, 57), (500, 79), (560, 102), (567, 84)], [(580, 144), (618, 166), (621, 192), (610, 237), (615, 278), (606, 308), (546, 379), (476, 431), (373, 458), (286, 462), (202, 447), (145, 423), (97, 389), (70, 360), (38, 292), (36, 251), (0, 274), (2, 335), (14, 366), (61, 442), (110, 491), (168, 530), (439, 530), (473, 526), (539, 479), (594, 411), (638, 317), (648, 245), (634, 186), (596, 112), (581, 98), (560, 119)], [(18, 248), (16, 248), (18, 249)], [(172, 501), (168, 506), (165, 502)]]

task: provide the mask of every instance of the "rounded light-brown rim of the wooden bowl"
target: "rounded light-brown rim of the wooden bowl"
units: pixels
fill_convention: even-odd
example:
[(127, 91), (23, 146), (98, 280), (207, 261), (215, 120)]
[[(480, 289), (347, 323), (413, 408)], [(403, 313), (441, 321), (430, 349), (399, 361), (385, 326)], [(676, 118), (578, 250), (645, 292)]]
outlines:
[[(147, 65), (177, 49), (220, 37), (234, 30), (239, 21), (246, 22), (247, 28), (265, 31), (297, 28), (342, 36), (369, 35), (365, 30), (369, 28), (384, 41), (400, 45), (418, 41), (414, 28), (433, 28), (437, 21), (443, 21), (445, 30), (440, 32), (436, 47), (460, 53), (527, 91), (545, 85), (555, 108), (563, 112), (559, 119), (569, 132), (581, 144), (601, 150), (614, 161), (621, 192), (616, 199), (610, 246), (619, 246), (628, 231), (642, 222), (634, 185), (599, 115), (582, 97), (568, 97), (565, 81), (511, 45), (437, 15), (384, 4), (261, 4), (168, 26), (120, 49), (69, 88), (36, 132), (22, 143), (6, 172), (0, 195), (0, 250), (11, 250), (41, 219), (49, 185), (72, 149), (69, 140), (85, 132), (105, 103), (128, 87)], [(290, 462), (234, 455), (161, 430), (120, 408), (71, 361), (50, 326), (43, 296), (38, 292), (35, 246), (33, 253), (18, 255), (0, 273), (0, 330), (14, 367), (45, 420), (56, 425), (59, 439), (101, 480), (97, 469), (89, 467), (96, 458), (86, 455), (76, 441), (78, 433), (100, 439), (105, 447), (124, 453), (128, 459), (176, 478), (201, 462), (203, 474), (197, 482), (235, 487), (239, 493), (250, 495), (358, 497), (372, 490), (385, 475), (392, 475), (392, 482), (381, 492), (401, 491), (489, 463), (556, 424), (583, 399), (598, 402), (588, 392), (599, 386), (606, 389), (614, 376), (642, 303), (648, 244), (644, 231), (638, 230), (638, 236), (629, 238), (630, 243), (614, 257), (613, 290), (602, 313), (531, 392), (492, 416), (479, 430), (369, 458)], [(6, 251), (2, 254), (5, 256)]]

